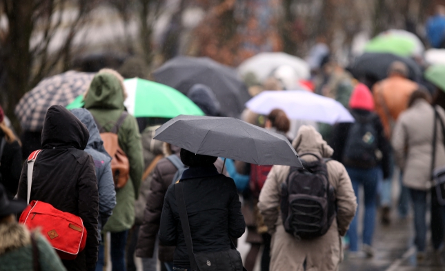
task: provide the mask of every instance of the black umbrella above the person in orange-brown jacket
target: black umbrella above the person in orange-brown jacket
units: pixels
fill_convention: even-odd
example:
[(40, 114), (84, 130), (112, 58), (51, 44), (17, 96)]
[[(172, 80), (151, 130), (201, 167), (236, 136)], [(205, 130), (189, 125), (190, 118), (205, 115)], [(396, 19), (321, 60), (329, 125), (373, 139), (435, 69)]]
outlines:
[(394, 61), (402, 61), (408, 66), (409, 79), (418, 82), (422, 78), (422, 70), (413, 59), (389, 53), (366, 52), (358, 57), (348, 70), (356, 79), (372, 86), (388, 76), (388, 68)]

